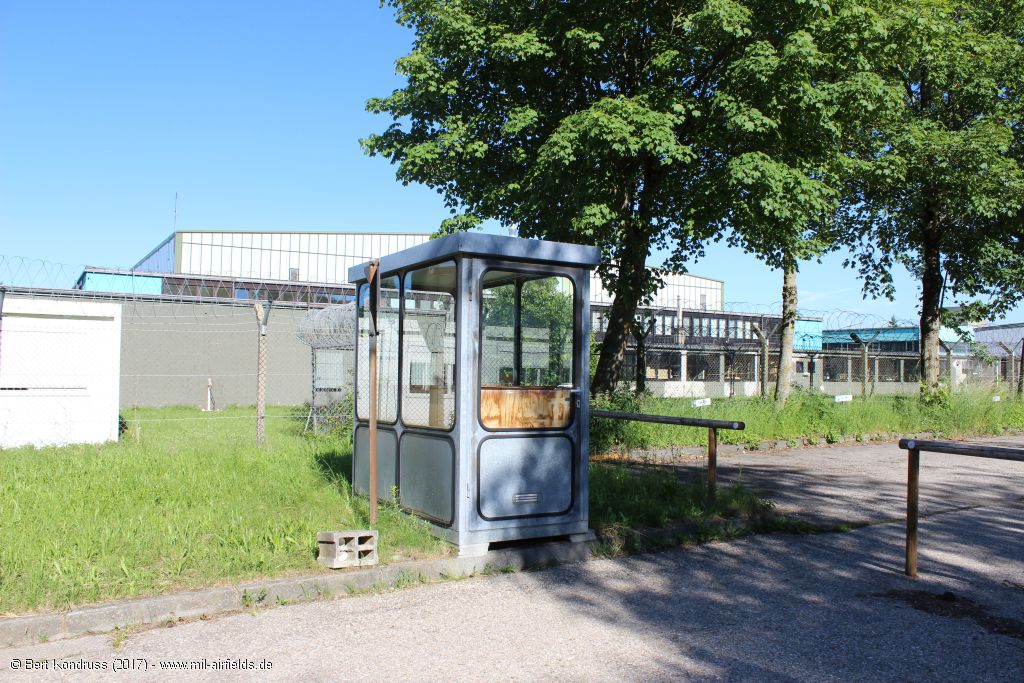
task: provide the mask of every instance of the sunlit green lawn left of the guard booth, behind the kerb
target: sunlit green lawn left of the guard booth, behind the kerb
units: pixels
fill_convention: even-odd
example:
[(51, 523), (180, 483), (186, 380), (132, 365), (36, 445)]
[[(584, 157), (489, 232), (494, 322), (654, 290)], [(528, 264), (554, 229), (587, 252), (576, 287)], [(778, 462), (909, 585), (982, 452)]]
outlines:
[[(252, 415), (138, 410), (118, 443), (0, 451), (0, 613), (318, 570), (317, 531), (369, 526), (350, 443), (279, 408), (260, 447)], [(449, 552), (394, 506), (378, 521), (382, 561)]]

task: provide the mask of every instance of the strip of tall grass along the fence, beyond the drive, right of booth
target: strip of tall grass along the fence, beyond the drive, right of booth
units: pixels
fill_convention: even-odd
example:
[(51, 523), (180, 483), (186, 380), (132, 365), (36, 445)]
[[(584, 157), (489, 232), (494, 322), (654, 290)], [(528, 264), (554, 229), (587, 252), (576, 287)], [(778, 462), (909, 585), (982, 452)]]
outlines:
[[(753, 447), (762, 440), (799, 442), (811, 438), (836, 442), (876, 434), (921, 432), (957, 438), (1024, 428), (1024, 401), (1002, 396), (1002, 400), (993, 402), (991, 393), (981, 391), (953, 393), (944, 402), (936, 403), (923, 401), (916, 395), (866, 399), (855, 396), (851, 402), (837, 403), (831, 396), (796, 391), (782, 409), (758, 398), (731, 398), (692, 408), (688, 398), (648, 396), (638, 399), (637, 408), (655, 415), (743, 421), (745, 430), (722, 430), (719, 439)], [(633, 423), (620, 434), (623, 438), (617, 440), (625, 447), (700, 445), (708, 441), (706, 429), (649, 423)]]

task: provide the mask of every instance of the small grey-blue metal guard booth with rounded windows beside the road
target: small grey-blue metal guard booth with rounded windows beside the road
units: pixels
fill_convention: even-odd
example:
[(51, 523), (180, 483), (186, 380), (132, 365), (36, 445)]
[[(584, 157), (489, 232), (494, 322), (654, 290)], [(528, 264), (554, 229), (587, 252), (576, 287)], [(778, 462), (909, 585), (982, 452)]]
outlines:
[[(594, 247), (462, 232), (380, 259), (377, 495), (461, 555), (588, 528)], [(352, 481), (369, 492), (371, 291), (358, 288)]]

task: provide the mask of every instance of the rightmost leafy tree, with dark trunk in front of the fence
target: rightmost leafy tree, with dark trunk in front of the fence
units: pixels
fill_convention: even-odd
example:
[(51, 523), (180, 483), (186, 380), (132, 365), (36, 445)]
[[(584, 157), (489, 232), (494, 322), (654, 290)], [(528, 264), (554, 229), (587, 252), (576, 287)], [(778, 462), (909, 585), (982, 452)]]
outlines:
[(939, 383), (939, 329), (1002, 315), (1024, 294), (1024, 4), (880, 3), (878, 69), (898, 97), (866, 130), (876, 161), (844, 202), (865, 294), (892, 297), (890, 268), (921, 282), (923, 390)]

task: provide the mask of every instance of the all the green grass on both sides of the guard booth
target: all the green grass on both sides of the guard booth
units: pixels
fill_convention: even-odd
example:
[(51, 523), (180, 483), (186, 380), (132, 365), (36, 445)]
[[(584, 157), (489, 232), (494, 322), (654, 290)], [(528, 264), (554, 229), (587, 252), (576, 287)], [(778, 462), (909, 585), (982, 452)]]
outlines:
[[(649, 413), (743, 420), (745, 431), (720, 437), (752, 445), (1024, 427), (1024, 402), (970, 393), (945, 405), (915, 396), (837, 404), (803, 392), (782, 410), (757, 399), (705, 409), (682, 399), (640, 403)], [(118, 443), (0, 451), (0, 614), (322, 570), (317, 531), (369, 526), (367, 503), (346, 479), (347, 434), (305, 437), (293, 409), (269, 409), (265, 447), (254, 443), (252, 409), (146, 409), (125, 417), (130, 424)], [(707, 439), (703, 429), (638, 423), (620, 433), (641, 447)], [(770, 506), (742, 486), (722, 488), (710, 503), (702, 485), (656, 470), (595, 463), (590, 486), (591, 524), (605, 538), (679, 522), (722, 529), (700, 537), (714, 538), (729, 533), (716, 522), (770, 517), (762, 514)], [(377, 528), (382, 562), (451, 552), (393, 504), (382, 507)]]

